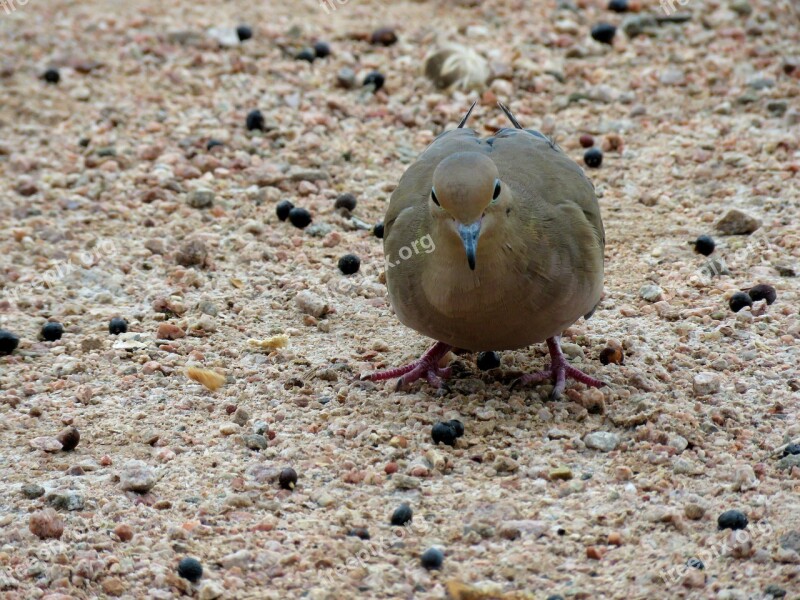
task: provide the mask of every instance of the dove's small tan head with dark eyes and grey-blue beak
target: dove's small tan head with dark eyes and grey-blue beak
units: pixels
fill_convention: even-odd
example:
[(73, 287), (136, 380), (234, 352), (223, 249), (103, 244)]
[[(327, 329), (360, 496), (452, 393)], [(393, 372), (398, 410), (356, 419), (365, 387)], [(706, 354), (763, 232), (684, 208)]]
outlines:
[(478, 239), (493, 229), (506, 191), (494, 161), (479, 152), (451, 154), (433, 172), (430, 210), (440, 228), (450, 230), (464, 246), (469, 268), (475, 270)]

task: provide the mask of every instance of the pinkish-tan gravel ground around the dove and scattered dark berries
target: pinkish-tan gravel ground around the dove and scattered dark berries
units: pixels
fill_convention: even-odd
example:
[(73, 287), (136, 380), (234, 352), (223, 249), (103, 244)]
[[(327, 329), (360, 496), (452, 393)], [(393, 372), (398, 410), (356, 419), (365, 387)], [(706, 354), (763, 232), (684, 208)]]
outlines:
[[(684, 0), (688, 20), (658, 23), (641, 4), (6, 0), (0, 328), (21, 341), (0, 357), (0, 594), (800, 598), (800, 456), (783, 457), (800, 437), (796, 5)], [(642, 35), (589, 36), (625, 20)], [(240, 23), (241, 44), (208, 33)], [(397, 43), (370, 44), (379, 27)], [(318, 40), (329, 57), (294, 59)], [(605, 298), (564, 337), (601, 391), (511, 390), (543, 345), (489, 372), (454, 357), (438, 393), (353, 381), (430, 343), (394, 318), (369, 227), (479, 95), (421, 75), (445, 41), (496, 75), (484, 133), (501, 100), (581, 164), (582, 134), (605, 150), (587, 169)], [(312, 225), (279, 221), (284, 199)], [(731, 210), (757, 229), (726, 235)], [(758, 283), (777, 301), (733, 313)], [(128, 333), (109, 334), (116, 316)], [(60, 340), (39, 339), (48, 319)], [(624, 363), (601, 364), (606, 347)], [(434, 446), (452, 418), (465, 435)], [(718, 529), (727, 510), (748, 526)], [(439, 570), (420, 564), (431, 546)]]

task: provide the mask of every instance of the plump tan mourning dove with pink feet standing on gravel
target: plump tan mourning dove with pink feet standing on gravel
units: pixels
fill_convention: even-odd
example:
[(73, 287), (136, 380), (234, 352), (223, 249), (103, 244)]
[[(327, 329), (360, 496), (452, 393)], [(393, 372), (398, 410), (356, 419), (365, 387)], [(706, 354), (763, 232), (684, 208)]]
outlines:
[(400, 321), (433, 338), (419, 360), (362, 379), (421, 377), (439, 387), (451, 349), (514, 350), (547, 341), (551, 363), (520, 382), (566, 379), (601, 387), (570, 366), (561, 333), (594, 312), (603, 292), (605, 233), (594, 186), (541, 133), (480, 138), (446, 131), (408, 168), (384, 220), (389, 299)]

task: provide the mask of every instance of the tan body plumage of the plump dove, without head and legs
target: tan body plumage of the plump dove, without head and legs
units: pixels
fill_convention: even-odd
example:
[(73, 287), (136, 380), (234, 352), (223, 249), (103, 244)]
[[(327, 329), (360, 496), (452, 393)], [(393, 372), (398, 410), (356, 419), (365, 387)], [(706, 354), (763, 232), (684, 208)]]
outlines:
[[(486, 210), (474, 271), (449, 213), (431, 200), (436, 167), (463, 152), (487, 157), (502, 186), (500, 201)], [(402, 248), (428, 234), (434, 251), (400, 260)], [(403, 324), (435, 340), (474, 351), (521, 348), (594, 308), (604, 244), (594, 188), (555, 145), (520, 129), (488, 140), (455, 129), (423, 152), (392, 195), (384, 249), (397, 264), (386, 270), (389, 298)]]

